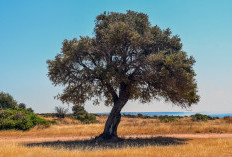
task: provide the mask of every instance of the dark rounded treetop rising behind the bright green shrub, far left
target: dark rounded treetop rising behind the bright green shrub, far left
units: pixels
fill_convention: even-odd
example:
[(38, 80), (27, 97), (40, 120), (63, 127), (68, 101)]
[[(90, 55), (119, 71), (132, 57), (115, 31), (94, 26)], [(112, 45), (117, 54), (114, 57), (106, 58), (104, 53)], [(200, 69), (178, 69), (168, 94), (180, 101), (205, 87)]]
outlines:
[(16, 107), (17, 102), (10, 94), (0, 92), (0, 109), (14, 109)]

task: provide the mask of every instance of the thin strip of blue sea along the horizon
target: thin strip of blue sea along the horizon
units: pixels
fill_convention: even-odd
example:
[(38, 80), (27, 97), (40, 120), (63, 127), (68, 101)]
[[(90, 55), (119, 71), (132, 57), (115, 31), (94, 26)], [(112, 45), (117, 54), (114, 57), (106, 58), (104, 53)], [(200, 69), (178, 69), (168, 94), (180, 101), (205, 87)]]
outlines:
[[(211, 113), (211, 112), (122, 112), (121, 114), (130, 114), (130, 115), (138, 115), (141, 113), (146, 116), (191, 116), (196, 113), (209, 115), (211, 117), (226, 117), (232, 116), (232, 113)], [(96, 113), (98, 115), (108, 115), (109, 113)]]

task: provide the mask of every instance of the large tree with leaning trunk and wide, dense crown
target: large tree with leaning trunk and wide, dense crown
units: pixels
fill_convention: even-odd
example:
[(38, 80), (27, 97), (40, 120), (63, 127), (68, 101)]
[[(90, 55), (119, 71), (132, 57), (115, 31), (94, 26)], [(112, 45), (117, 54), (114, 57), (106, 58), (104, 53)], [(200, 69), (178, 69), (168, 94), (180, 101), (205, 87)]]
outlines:
[(193, 64), (171, 30), (151, 26), (143, 13), (103, 13), (93, 37), (64, 40), (61, 53), (48, 60), (48, 76), (65, 89), (63, 102), (94, 103), (104, 97), (113, 108), (101, 139), (117, 137), (121, 110), (128, 100), (141, 103), (164, 98), (190, 107), (199, 101)]

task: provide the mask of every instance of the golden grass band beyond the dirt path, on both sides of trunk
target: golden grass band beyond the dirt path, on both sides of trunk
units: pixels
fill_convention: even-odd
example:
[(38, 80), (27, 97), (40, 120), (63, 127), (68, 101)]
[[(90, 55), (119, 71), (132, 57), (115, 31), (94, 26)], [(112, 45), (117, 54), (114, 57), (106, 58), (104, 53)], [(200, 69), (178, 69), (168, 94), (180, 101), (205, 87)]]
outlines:
[[(57, 120), (57, 125), (49, 128), (37, 126), (29, 131), (0, 131), (0, 137), (57, 137), (57, 136), (96, 136), (104, 128), (106, 116), (97, 117), (97, 124), (81, 124), (79, 121), (65, 118)], [(52, 119), (52, 118), (50, 118)], [(207, 122), (193, 122), (190, 118), (183, 118), (177, 122), (161, 123), (157, 119), (122, 118), (119, 124), (119, 135), (138, 134), (183, 134), (183, 133), (232, 133), (232, 123), (225, 119)]]

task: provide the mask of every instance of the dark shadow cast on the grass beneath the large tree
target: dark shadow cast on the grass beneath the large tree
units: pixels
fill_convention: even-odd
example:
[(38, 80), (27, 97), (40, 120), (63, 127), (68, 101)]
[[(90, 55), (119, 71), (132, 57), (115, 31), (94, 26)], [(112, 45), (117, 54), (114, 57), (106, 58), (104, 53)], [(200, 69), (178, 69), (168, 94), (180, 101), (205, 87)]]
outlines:
[(144, 146), (170, 146), (186, 144), (190, 139), (173, 138), (173, 137), (153, 137), (153, 138), (129, 138), (120, 139), (117, 141), (98, 141), (90, 140), (75, 140), (75, 141), (54, 141), (41, 143), (28, 143), (26, 146), (43, 146), (65, 149), (101, 149), (101, 148), (123, 148), (123, 147), (144, 147)]

